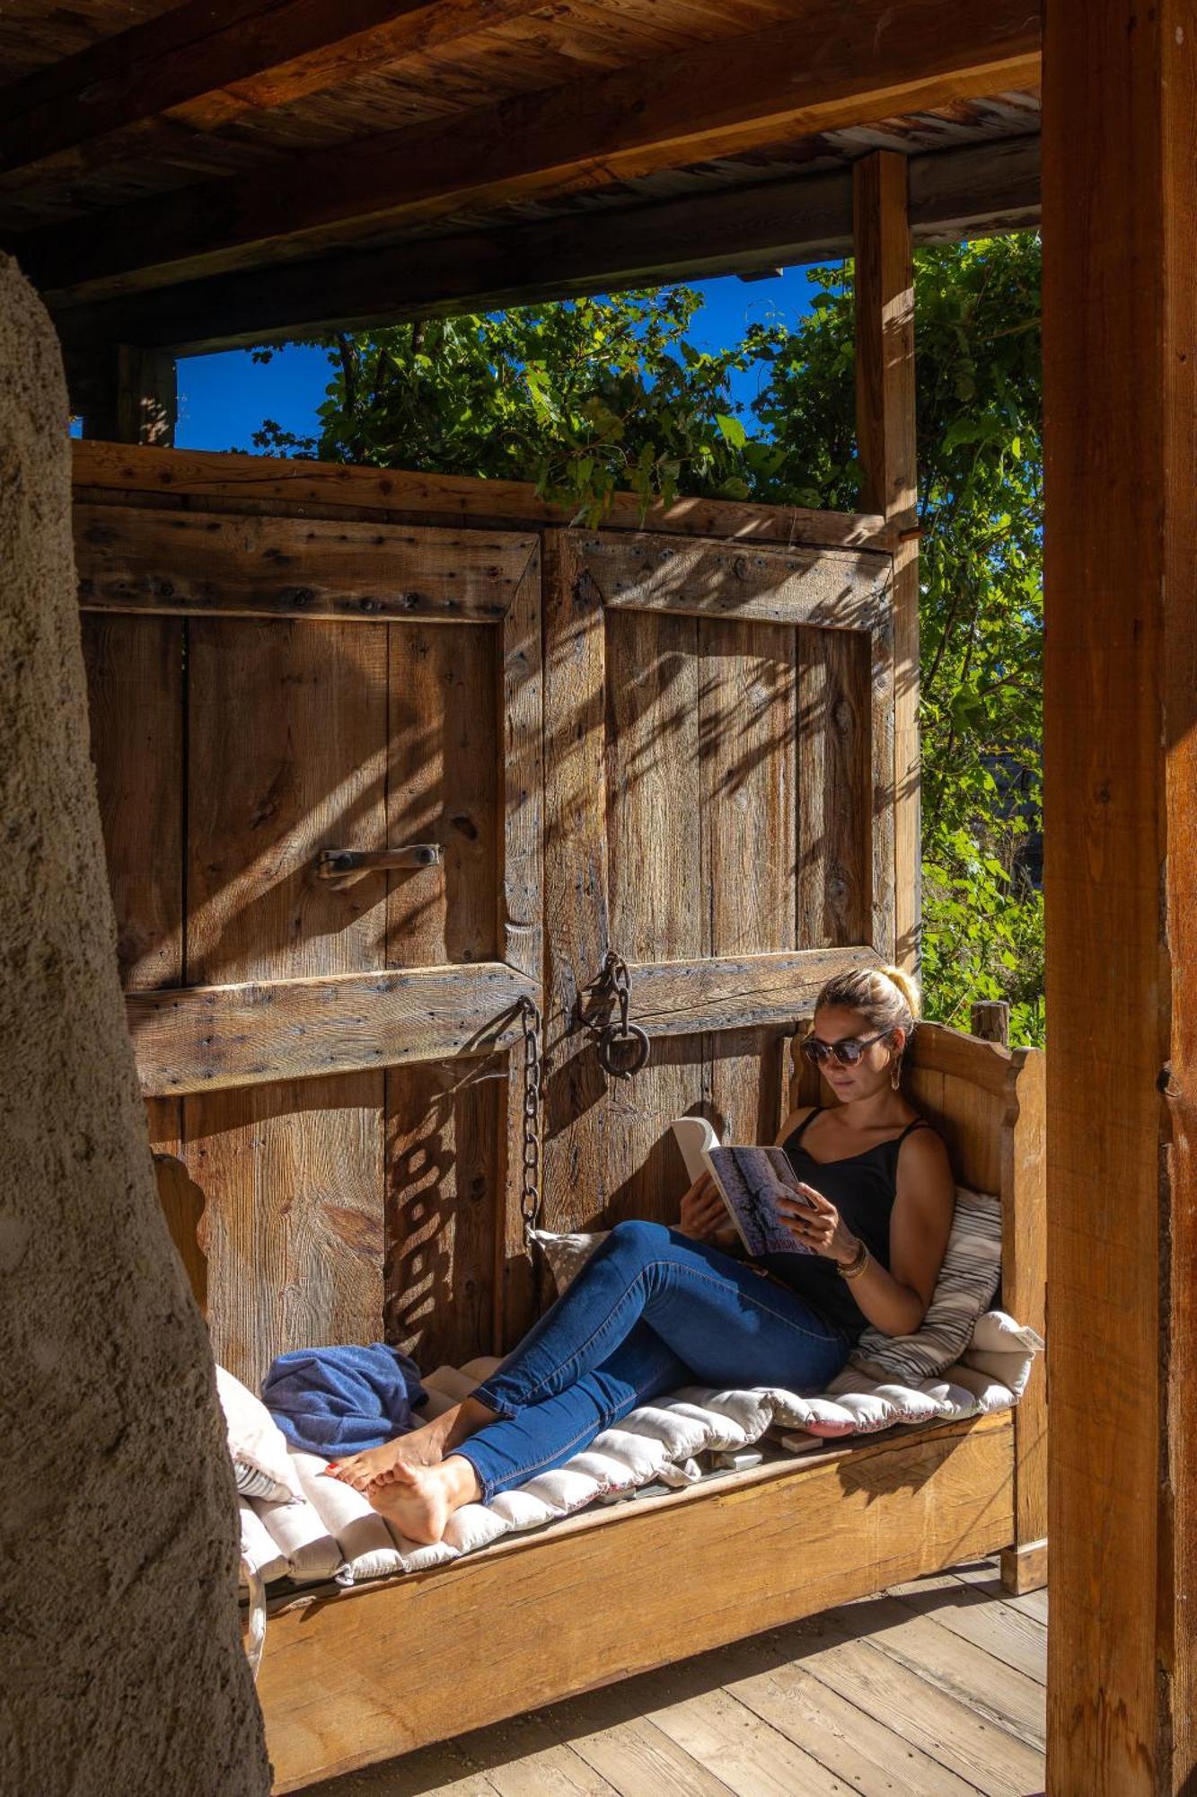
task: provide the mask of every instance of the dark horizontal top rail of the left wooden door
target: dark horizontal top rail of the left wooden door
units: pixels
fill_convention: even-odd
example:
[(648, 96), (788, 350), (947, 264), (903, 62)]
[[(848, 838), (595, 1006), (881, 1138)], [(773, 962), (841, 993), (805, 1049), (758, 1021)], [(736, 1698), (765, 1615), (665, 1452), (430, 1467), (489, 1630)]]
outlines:
[(498, 622), (532, 541), (350, 521), (75, 505), (88, 611)]

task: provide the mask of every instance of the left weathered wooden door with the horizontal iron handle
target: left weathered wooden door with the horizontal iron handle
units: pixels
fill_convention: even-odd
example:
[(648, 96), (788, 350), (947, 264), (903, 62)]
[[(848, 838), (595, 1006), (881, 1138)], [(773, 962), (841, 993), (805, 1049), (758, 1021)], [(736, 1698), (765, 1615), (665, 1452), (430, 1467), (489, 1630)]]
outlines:
[[(541, 997), (537, 539), (75, 523), (129, 1028), (205, 1197), (216, 1355), (255, 1384), (293, 1346), (485, 1351)], [(318, 877), (412, 843), (440, 863)]]

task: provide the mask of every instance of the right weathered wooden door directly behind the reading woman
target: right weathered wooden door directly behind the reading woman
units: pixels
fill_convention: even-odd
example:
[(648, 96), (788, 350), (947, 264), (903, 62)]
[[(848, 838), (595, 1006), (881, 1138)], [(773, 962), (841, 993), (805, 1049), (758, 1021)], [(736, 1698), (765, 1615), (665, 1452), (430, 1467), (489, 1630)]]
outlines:
[[(890, 559), (615, 532), (545, 543), (548, 1227), (676, 1218), (669, 1120), (778, 1127), (829, 974), (893, 958)], [(615, 949), (651, 1060), (577, 1001)]]

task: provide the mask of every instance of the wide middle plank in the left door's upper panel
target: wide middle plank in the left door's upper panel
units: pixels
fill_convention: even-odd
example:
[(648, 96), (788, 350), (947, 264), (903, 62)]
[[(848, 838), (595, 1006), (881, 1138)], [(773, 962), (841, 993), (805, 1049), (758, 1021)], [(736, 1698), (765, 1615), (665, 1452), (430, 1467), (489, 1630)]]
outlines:
[(187, 668), (189, 983), (383, 967), (383, 879), (313, 864), (386, 846), (386, 631), (194, 618)]

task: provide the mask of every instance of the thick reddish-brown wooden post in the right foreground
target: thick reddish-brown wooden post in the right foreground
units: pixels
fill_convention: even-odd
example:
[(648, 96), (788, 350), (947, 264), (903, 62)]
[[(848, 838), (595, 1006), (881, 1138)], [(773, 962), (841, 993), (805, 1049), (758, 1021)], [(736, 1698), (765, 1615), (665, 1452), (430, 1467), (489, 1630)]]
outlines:
[(1048, 1790), (1197, 1790), (1197, 7), (1044, 13)]

